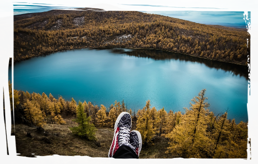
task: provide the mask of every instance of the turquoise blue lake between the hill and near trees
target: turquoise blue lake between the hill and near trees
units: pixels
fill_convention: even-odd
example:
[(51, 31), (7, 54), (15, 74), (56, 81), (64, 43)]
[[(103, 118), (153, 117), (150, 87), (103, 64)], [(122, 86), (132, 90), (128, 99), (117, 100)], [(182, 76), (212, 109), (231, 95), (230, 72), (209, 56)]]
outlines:
[(159, 50), (81, 49), (18, 62), (1, 70), (13, 88), (132, 110), (147, 100), (157, 110), (182, 111), (202, 89), (215, 114), (236, 122), (258, 113), (258, 69)]

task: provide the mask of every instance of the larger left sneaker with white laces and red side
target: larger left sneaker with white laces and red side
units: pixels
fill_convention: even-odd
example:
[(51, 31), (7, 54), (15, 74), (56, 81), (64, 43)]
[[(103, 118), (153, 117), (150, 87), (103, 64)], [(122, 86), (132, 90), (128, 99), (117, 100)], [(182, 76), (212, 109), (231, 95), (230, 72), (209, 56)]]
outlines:
[(131, 127), (131, 115), (128, 112), (121, 112), (114, 124), (114, 137), (108, 152), (109, 159), (111, 159), (120, 146), (126, 145), (131, 147), (129, 143)]

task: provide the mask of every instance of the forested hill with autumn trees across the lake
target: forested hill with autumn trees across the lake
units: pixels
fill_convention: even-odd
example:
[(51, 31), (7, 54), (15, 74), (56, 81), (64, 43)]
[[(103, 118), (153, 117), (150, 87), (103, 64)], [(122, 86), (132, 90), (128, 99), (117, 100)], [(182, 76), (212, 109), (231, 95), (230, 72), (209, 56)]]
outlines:
[(160, 49), (258, 67), (258, 32), (96, 4), (0, 18), (0, 68), (87, 47)]

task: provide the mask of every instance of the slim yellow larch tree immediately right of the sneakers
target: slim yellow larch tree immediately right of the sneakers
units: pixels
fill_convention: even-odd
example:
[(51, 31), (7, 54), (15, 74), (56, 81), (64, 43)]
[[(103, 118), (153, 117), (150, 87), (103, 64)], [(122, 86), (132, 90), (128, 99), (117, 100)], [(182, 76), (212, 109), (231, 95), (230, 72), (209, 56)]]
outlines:
[(150, 100), (146, 102), (146, 105), (143, 109), (139, 109), (137, 112), (138, 119), (136, 130), (138, 130), (143, 139), (143, 144), (151, 142), (152, 137), (155, 134), (155, 129), (153, 128), (153, 119), (151, 116), (151, 104)]

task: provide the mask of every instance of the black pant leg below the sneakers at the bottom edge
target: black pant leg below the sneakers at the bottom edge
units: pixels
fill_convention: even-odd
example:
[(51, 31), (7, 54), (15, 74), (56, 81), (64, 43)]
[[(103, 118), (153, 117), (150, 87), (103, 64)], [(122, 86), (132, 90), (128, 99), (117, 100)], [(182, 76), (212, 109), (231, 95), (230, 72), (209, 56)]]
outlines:
[(129, 147), (122, 145), (120, 146), (111, 157), (111, 164), (140, 164), (139, 157), (135, 151)]

